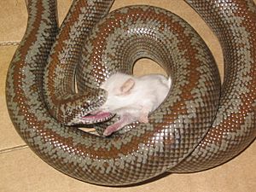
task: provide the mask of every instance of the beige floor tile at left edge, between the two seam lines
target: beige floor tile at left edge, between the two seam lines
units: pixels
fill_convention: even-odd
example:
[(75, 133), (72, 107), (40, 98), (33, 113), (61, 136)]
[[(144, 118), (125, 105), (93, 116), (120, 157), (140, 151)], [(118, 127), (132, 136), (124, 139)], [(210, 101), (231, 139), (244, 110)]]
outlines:
[(0, 134), (0, 150), (25, 144), (16, 133), (15, 128), (9, 119), (5, 102), (6, 73), (16, 48), (16, 46), (0, 46), (0, 132), (2, 133)]

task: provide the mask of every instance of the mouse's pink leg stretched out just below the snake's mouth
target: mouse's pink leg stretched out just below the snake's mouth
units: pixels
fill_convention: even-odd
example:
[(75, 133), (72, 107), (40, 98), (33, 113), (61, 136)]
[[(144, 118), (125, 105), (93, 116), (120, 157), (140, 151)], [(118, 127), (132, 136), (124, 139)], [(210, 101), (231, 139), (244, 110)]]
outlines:
[(125, 113), (122, 116), (120, 116), (119, 121), (115, 122), (113, 125), (109, 125), (106, 130), (104, 131), (104, 136), (109, 136), (115, 131), (119, 131), (122, 127), (125, 125), (129, 125), (132, 122), (134, 122), (136, 119), (130, 114)]

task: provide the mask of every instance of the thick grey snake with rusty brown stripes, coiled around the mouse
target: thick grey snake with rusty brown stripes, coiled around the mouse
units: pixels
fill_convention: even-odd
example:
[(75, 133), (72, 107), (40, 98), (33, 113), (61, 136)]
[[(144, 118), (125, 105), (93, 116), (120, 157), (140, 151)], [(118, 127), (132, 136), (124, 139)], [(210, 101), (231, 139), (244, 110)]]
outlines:
[[(6, 81), (9, 116), (20, 137), (50, 166), (101, 185), (203, 171), (241, 153), (256, 136), (255, 4), (186, 2), (221, 44), (221, 88), (206, 44), (164, 9), (131, 6), (107, 15), (113, 1), (75, 0), (59, 29), (55, 0), (28, 0), (26, 33)], [(135, 122), (114, 137), (71, 126), (93, 123), (83, 116), (107, 97), (97, 87), (111, 73), (132, 73), (143, 57), (158, 62), (173, 81), (149, 123)]]

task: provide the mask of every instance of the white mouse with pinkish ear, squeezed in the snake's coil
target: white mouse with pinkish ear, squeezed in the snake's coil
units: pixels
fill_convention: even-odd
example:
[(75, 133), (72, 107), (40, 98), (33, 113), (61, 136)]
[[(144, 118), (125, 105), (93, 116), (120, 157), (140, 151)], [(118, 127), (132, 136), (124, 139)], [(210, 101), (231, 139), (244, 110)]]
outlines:
[[(104, 136), (111, 135), (134, 121), (148, 122), (148, 113), (160, 106), (166, 98), (172, 79), (160, 74), (134, 77), (125, 73), (114, 73), (100, 86), (108, 91), (107, 101), (93, 114), (115, 113), (119, 120), (109, 125)], [(96, 115), (97, 116), (97, 115)]]

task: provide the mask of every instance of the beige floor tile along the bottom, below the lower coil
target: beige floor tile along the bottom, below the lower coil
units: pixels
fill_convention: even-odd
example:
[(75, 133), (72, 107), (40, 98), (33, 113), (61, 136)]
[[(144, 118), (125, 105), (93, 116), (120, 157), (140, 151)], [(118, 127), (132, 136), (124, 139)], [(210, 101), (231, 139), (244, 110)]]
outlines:
[(254, 192), (256, 189), (256, 144), (235, 160), (207, 172), (172, 174), (133, 187), (109, 188), (80, 182), (56, 171), (29, 148), (0, 154), (0, 191), (86, 192)]

